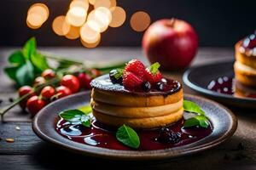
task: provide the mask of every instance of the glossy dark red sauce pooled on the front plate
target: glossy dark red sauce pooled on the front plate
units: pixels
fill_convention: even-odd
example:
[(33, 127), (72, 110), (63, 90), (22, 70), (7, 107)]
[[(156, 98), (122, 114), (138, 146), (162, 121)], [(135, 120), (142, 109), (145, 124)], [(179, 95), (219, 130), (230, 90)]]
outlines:
[[(207, 137), (212, 133), (212, 126), (207, 128), (189, 127), (183, 128), (184, 120), (167, 127), (148, 130), (137, 130), (141, 144), (138, 150), (161, 150), (191, 144)], [(94, 118), (90, 127), (73, 124), (60, 119), (56, 124), (56, 131), (67, 139), (81, 144), (89, 144), (96, 147), (112, 150), (132, 150), (119, 143), (115, 138), (115, 127), (109, 127)]]

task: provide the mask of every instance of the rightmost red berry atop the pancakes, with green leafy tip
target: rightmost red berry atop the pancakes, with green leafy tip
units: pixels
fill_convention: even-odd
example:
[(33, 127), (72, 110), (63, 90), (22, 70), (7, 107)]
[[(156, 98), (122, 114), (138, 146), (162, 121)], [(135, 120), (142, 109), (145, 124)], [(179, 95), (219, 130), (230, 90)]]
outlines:
[(158, 62), (151, 65), (149, 68), (146, 68), (145, 70), (145, 77), (148, 82), (151, 84), (154, 84), (156, 82), (160, 82), (162, 78), (162, 74), (158, 70), (160, 67), (160, 64)]

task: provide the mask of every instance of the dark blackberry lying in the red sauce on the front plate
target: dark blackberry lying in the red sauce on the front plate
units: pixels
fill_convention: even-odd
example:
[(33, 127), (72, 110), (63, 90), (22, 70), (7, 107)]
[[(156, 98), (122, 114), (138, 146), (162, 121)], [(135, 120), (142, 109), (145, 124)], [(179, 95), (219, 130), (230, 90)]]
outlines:
[(181, 140), (181, 133), (175, 133), (168, 127), (162, 127), (156, 140), (164, 144), (177, 144)]

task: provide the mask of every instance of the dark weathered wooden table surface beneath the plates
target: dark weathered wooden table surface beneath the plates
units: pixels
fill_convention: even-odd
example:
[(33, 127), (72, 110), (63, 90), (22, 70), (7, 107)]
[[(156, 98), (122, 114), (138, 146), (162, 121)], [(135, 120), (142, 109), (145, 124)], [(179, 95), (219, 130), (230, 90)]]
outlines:
[[(0, 99), (8, 105), (10, 98), (16, 98), (13, 82), (3, 74), (7, 65), (7, 57), (15, 48), (0, 48)], [(147, 60), (140, 48), (41, 48), (60, 56), (72, 59), (90, 59), (100, 64), (128, 60), (131, 58)], [(192, 65), (220, 62), (234, 59), (232, 48), (201, 48)], [(166, 72), (166, 76), (179, 81), (183, 71)], [(184, 86), (185, 93), (195, 94)], [(198, 94), (197, 94), (198, 95)], [(90, 158), (73, 154), (56, 148), (39, 139), (31, 127), (31, 117), (20, 111), (19, 107), (9, 111), (6, 122), (0, 123), (0, 170), (2, 169), (60, 169), (92, 167), (131, 168), (131, 169), (256, 169), (256, 111), (233, 108), (228, 106), (238, 116), (238, 128), (234, 136), (218, 147), (192, 156), (183, 156), (163, 161), (109, 161), (100, 158)], [(17, 131), (15, 127), (20, 127)], [(6, 138), (15, 139), (7, 143)]]

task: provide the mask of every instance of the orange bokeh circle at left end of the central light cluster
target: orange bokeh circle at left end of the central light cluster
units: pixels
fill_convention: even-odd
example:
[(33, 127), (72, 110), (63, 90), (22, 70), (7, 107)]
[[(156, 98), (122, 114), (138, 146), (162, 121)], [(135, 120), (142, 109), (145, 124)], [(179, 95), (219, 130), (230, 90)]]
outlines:
[(55, 31), (55, 34), (59, 36), (65, 36), (70, 30), (70, 25), (66, 21), (64, 15), (57, 16), (52, 23), (52, 29)]

